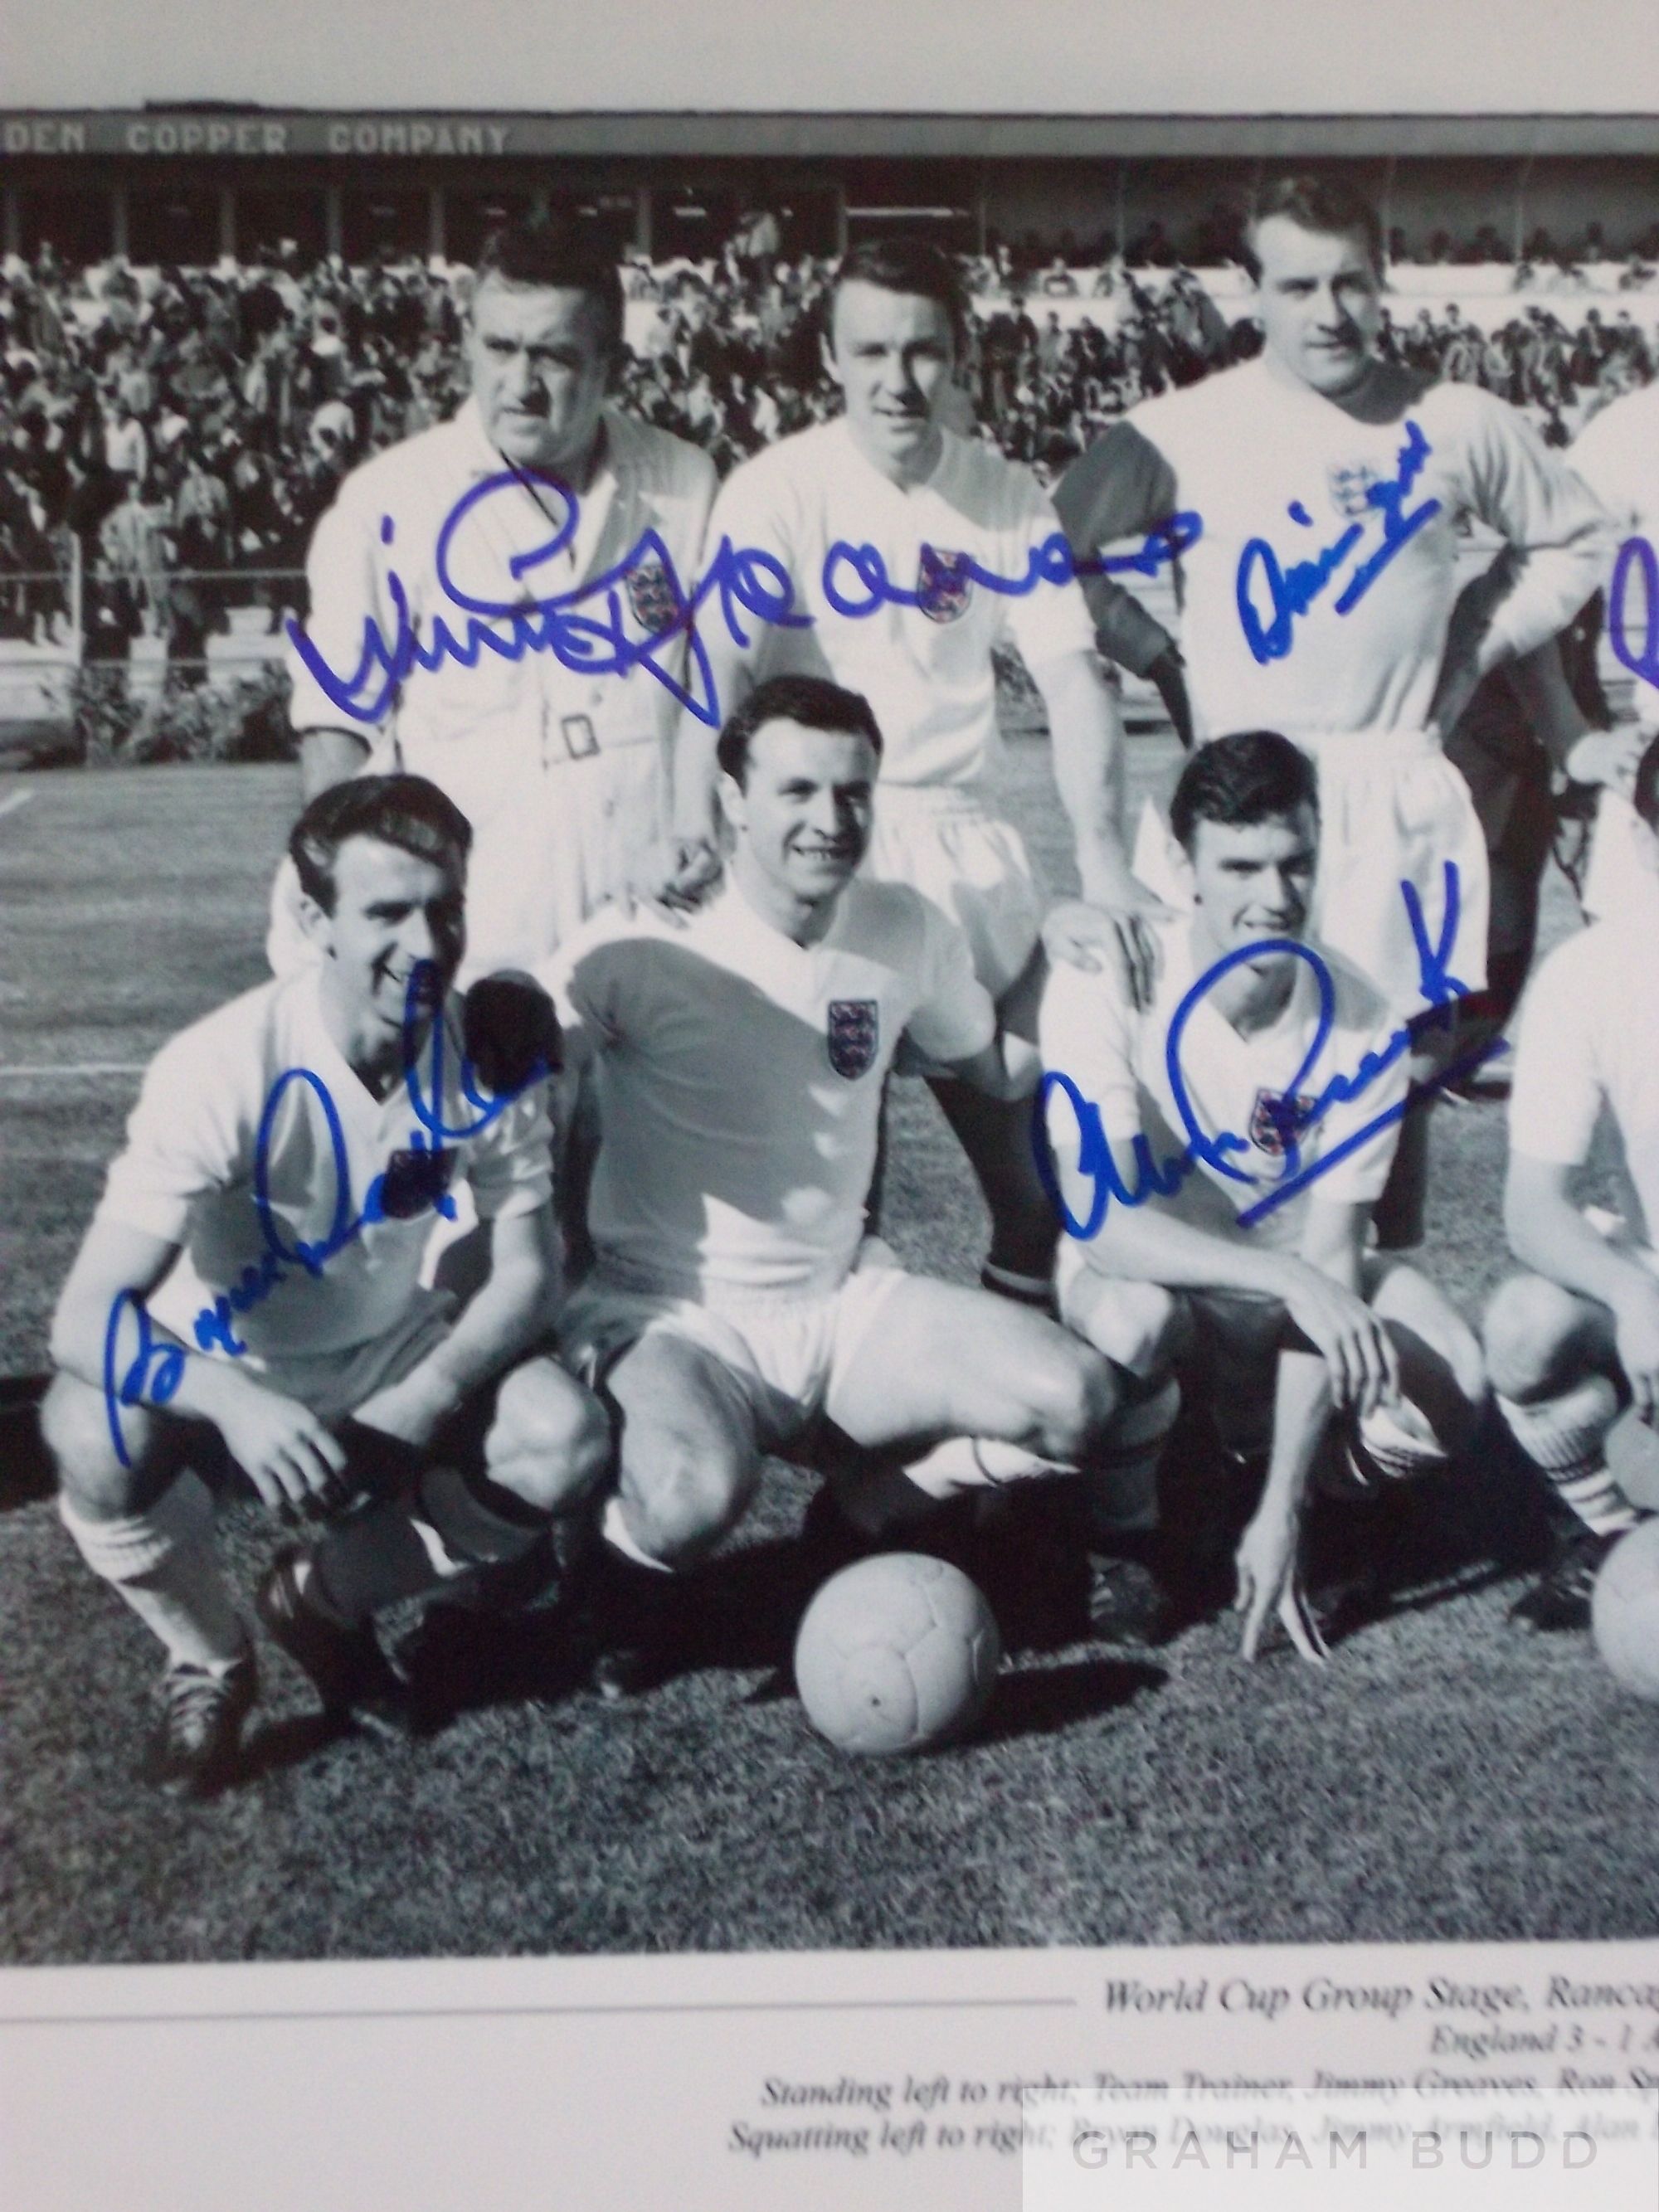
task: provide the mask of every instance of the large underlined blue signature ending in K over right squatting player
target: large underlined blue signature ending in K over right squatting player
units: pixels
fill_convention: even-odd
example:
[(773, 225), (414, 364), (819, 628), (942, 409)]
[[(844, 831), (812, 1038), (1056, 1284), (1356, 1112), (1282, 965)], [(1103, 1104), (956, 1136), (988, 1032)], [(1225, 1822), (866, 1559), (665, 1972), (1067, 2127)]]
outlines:
[[(1458, 916), (1460, 916), (1460, 891), (1458, 891), (1458, 863), (1444, 863), (1444, 911), (1440, 918), (1440, 936), (1429, 938), (1429, 929), (1422, 916), (1422, 902), (1418, 898), (1416, 885), (1402, 883), (1400, 896), (1405, 898), (1407, 920), (1411, 925), (1411, 938), (1418, 951), (1418, 971), (1422, 982), (1422, 998), (1429, 1009), (1444, 1009), (1455, 1004), (1460, 998), (1469, 995), (1469, 984), (1451, 973), (1449, 960), (1451, 949), (1458, 940)], [(1155, 1159), (1152, 1148), (1144, 1135), (1135, 1135), (1130, 1141), (1133, 1181), (1119, 1172), (1113, 1157), (1113, 1148), (1106, 1139), (1106, 1130), (1099, 1119), (1099, 1106), (1084, 1097), (1071, 1075), (1057, 1068), (1046, 1068), (1042, 1082), (1037, 1084), (1037, 1095), (1033, 1099), (1033, 1144), (1037, 1155), (1037, 1172), (1042, 1175), (1044, 1188), (1060, 1212), (1060, 1221), (1068, 1237), (1079, 1243), (1088, 1243), (1097, 1237), (1102, 1223), (1106, 1221), (1106, 1208), (1117, 1201), (1119, 1206), (1146, 1206), (1152, 1199), (1170, 1199), (1181, 1188), (1181, 1183), (1199, 1166), (1212, 1168), (1217, 1175), (1225, 1175), (1230, 1181), (1256, 1186), (1259, 1177), (1248, 1175), (1232, 1166), (1232, 1157), (1239, 1152), (1252, 1152), (1254, 1146), (1248, 1137), (1237, 1130), (1206, 1130), (1199, 1124), (1197, 1110), (1188, 1095), (1186, 1073), (1181, 1068), (1181, 1040), (1194, 1009), (1206, 1000), (1206, 995), (1230, 975), (1232, 969), (1245, 960), (1261, 960), (1263, 953), (1287, 953), (1301, 960), (1314, 975), (1318, 987), (1318, 1020), (1314, 1024), (1314, 1037), (1303, 1055), (1303, 1064), (1296, 1068), (1294, 1077), (1285, 1084), (1285, 1095), (1276, 1102), (1272, 1110), (1274, 1133), (1283, 1148), (1283, 1175), (1272, 1186), (1272, 1190), (1256, 1199), (1239, 1212), (1239, 1228), (1252, 1228), (1256, 1221), (1265, 1219), (1279, 1206), (1285, 1206), (1310, 1183), (1318, 1181), (1321, 1175), (1347, 1159), (1360, 1146), (1369, 1144), (1380, 1130), (1391, 1128), (1402, 1121), (1405, 1115), (1425, 1097), (1442, 1091), (1447, 1084), (1462, 1082), (1464, 1075), (1482, 1066), (1486, 1060), (1495, 1060), (1498, 1053), (1506, 1053), (1509, 1044), (1502, 1037), (1489, 1040), (1486, 1044), (1462, 1053), (1449, 1066), (1427, 1082), (1411, 1084), (1402, 1099), (1387, 1106), (1383, 1113), (1374, 1115), (1363, 1128), (1352, 1130), (1340, 1144), (1329, 1146), (1316, 1159), (1303, 1164), (1301, 1139), (1332, 1110), (1332, 1106), (1343, 1106), (1349, 1099), (1363, 1097), (1365, 1091), (1378, 1082), (1391, 1066), (1405, 1060), (1411, 1051), (1411, 1026), (1396, 1029), (1387, 1042), (1374, 1051), (1365, 1053), (1360, 1064), (1349, 1073), (1336, 1073), (1327, 1079), (1325, 1088), (1312, 1099), (1303, 1099), (1303, 1084), (1310, 1079), (1312, 1071), (1318, 1066), (1321, 1053), (1325, 1051), (1332, 1026), (1336, 1022), (1336, 984), (1325, 960), (1314, 951), (1312, 945), (1301, 942), (1301, 938), (1270, 938), (1259, 945), (1241, 945), (1237, 951), (1225, 953), (1212, 967), (1190, 984), (1181, 1004), (1170, 1015), (1170, 1029), (1164, 1044), (1164, 1066), (1170, 1082), (1170, 1095), (1175, 1099), (1175, 1110), (1186, 1128), (1186, 1148), (1168, 1159)], [(1073, 1119), (1077, 1124), (1077, 1168), (1093, 1183), (1086, 1214), (1073, 1214), (1066, 1206), (1066, 1197), (1060, 1188), (1060, 1177), (1055, 1172), (1053, 1152), (1048, 1146), (1048, 1099), (1053, 1093), (1062, 1093), (1071, 1106)]]

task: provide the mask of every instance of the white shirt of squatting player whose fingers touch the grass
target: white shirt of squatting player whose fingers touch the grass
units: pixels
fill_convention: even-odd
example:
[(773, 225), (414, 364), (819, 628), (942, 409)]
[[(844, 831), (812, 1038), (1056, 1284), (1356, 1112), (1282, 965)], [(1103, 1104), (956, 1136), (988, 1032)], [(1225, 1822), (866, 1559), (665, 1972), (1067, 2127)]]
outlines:
[[(1230, 1133), (1243, 1141), (1225, 1152), (1223, 1164), (1194, 1157), (1177, 1188), (1152, 1194), (1148, 1203), (1212, 1237), (1256, 1237), (1274, 1250), (1294, 1250), (1314, 1194), (1343, 1206), (1369, 1206), (1380, 1197), (1398, 1124), (1371, 1135), (1365, 1130), (1405, 1097), (1409, 1053), (1383, 995), (1325, 947), (1310, 947), (1332, 982), (1323, 1042), (1318, 973), (1305, 960), (1283, 1013), (1267, 1029), (1243, 1035), (1208, 995), (1197, 993), (1177, 1033), (1181, 1004), (1201, 980), (1192, 936), (1194, 925), (1186, 918), (1159, 929), (1164, 958), (1155, 1000), (1144, 1013), (1128, 1002), (1115, 971), (1088, 975), (1057, 962), (1037, 1022), (1042, 1066), (1046, 1075), (1071, 1077), (1082, 1099), (1099, 1108), (1113, 1161), (1130, 1192), (1148, 1188), (1137, 1139), (1164, 1181), (1179, 1172), (1177, 1164), (1188, 1155), (1192, 1135), (1181, 1113), (1179, 1075), (1197, 1130), (1206, 1139)], [(1376, 1062), (1383, 1066), (1367, 1079)], [(1358, 1084), (1356, 1095), (1343, 1099), (1327, 1091), (1334, 1077)], [(1301, 1115), (1321, 1102), (1327, 1104), (1318, 1119), (1301, 1124)], [(1294, 1150), (1285, 1144), (1292, 1121)], [(1086, 1223), (1095, 1208), (1095, 1181), (1079, 1170), (1077, 1110), (1057, 1084), (1048, 1086), (1046, 1126), (1066, 1210), (1073, 1223)], [(1239, 1223), (1239, 1214), (1272, 1197), (1276, 1186), (1305, 1175), (1349, 1141), (1352, 1150), (1294, 1197), (1254, 1223)]]

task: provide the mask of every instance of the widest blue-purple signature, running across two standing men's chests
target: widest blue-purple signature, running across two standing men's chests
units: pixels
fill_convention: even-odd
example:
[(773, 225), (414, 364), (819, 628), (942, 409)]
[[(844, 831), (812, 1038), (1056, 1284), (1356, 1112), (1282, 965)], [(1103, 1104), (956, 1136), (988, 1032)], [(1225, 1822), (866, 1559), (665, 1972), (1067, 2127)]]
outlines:
[[(549, 513), (553, 529), (542, 544), (515, 553), (507, 562), (507, 573), (518, 586), (515, 597), (484, 597), (467, 591), (453, 573), (456, 564), (465, 560), (467, 533), (473, 533), (473, 560), (478, 560), (484, 551), (484, 542), (476, 535), (480, 513), (487, 515), (489, 502), (500, 493), (526, 489), (533, 498), (538, 491), (546, 491), (560, 502), (562, 513)], [(538, 498), (538, 504), (544, 502)], [(305, 626), (292, 615), (288, 637), (325, 699), (341, 714), (361, 723), (378, 723), (416, 668), (434, 672), (445, 661), (478, 668), (484, 655), (518, 664), (531, 653), (551, 653), (564, 668), (586, 677), (626, 677), (635, 668), (644, 668), (681, 708), (714, 730), (721, 723), (721, 708), (708, 648), (697, 633), (699, 613), (714, 602), (732, 644), (743, 650), (750, 646), (750, 622), (787, 630), (812, 628), (814, 617), (796, 606), (794, 582), (776, 555), (761, 546), (734, 546), (730, 538), (721, 538), (703, 575), (681, 584), (675, 557), (655, 529), (644, 531), (628, 553), (602, 575), (588, 577), (573, 591), (538, 597), (526, 577), (571, 546), (577, 522), (580, 500), (568, 484), (540, 469), (502, 469), (465, 491), (438, 531), (434, 571), (442, 595), (456, 608), (456, 622), (434, 615), (422, 630), (422, 617), (409, 611), (403, 577), (389, 568), (387, 593), (396, 608), (392, 637), (385, 635), (374, 615), (365, 615), (363, 648), (352, 670), (330, 666), (316, 641), (305, 635)], [(1157, 575), (1159, 568), (1177, 562), (1201, 533), (1203, 522), (1197, 513), (1177, 513), (1148, 531), (1135, 553), (1079, 560), (1064, 533), (1053, 531), (1031, 549), (1026, 573), (1020, 577), (982, 568), (967, 553), (933, 553), (931, 562), (922, 560), (922, 582), (916, 591), (889, 577), (876, 546), (849, 544), (838, 538), (825, 551), (821, 582), (825, 599), (838, 615), (874, 615), (880, 606), (914, 606), (922, 613), (938, 613), (962, 584), (980, 584), (1004, 597), (1024, 597), (1037, 584), (1068, 584), (1084, 575)], [(383, 515), (380, 542), (392, 544), (394, 535), (392, 515)], [(843, 571), (849, 573), (860, 597), (852, 597), (843, 588)], [(633, 606), (646, 635), (628, 635), (624, 602)], [(686, 639), (684, 677), (677, 668), (679, 655), (672, 650), (679, 637)]]

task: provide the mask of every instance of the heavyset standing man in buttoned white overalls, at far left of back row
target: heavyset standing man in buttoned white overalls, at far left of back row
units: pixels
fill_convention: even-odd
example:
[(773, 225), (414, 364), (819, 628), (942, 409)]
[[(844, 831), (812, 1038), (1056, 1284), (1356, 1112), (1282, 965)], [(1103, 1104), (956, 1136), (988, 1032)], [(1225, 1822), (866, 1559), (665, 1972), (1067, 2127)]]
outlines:
[[(664, 827), (661, 675), (684, 655), (675, 611), (714, 467), (608, 403), (619, 354), (599, 241), (495, 232), (467, 319), (471, 398), (341, 484), (290, 626), (305, 794), (405, 768), (471, 823), (469, 975), (553, 951)], [(272, 967), (299, 956), (288, 876)]]

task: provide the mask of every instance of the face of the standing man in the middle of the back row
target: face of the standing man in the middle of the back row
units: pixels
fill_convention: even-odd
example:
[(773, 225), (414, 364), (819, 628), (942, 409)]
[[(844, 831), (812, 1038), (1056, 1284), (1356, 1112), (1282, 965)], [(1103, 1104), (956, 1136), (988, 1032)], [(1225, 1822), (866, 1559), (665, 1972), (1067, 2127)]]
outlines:
[(883, 476), (925, 478), (956, 367), (945, 301), (847, 279), (836, 288), (825, 363), (865, 456)]

